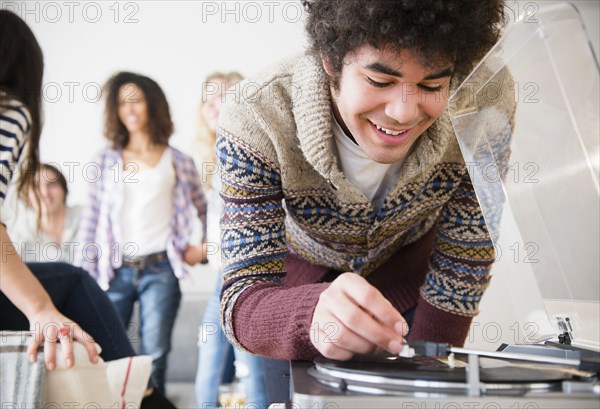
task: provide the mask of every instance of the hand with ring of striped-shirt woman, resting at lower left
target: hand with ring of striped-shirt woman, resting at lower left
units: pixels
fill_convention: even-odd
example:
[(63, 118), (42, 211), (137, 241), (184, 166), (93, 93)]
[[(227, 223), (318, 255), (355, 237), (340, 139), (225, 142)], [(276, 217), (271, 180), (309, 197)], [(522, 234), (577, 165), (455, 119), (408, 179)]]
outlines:
[(65, 366), (71, 368), (75, 364), (73, 357), (73, 342), (81, 343), (87, 350), (90, 362), (98, 362), (98, 351), (96, 344), (90, 334), (85, 332), (73, 320), (65, 317), (54, 307), (44, 309), (29, 318), (32, 332), (31, 341), (27, 348), (27, 356), (31, 362), (37, 358), (37, 350), (44, 345), (44, 360), (46, 368), (56, 368), (56, 346), (60, 342), (64, 348)]

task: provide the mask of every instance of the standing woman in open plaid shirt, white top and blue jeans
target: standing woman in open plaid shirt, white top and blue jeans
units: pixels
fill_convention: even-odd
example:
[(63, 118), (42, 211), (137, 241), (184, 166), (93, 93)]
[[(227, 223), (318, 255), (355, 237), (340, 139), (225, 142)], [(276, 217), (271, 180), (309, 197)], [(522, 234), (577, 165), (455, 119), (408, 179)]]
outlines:
[(120, 72), (105, 95), (110, 146), (100, 154), (79, 230), (95, 254), (77, 263), (107, 290), (126, 326), (139, 301), (140, 352), (152, 356), (152, 379), (164, 394), (183, 262), (206, 260), (205, 244), (190, 244), (192, 209), (206, 226), (206, 200), (192, 159), (169, 146), (173, 123), (160, 86)]

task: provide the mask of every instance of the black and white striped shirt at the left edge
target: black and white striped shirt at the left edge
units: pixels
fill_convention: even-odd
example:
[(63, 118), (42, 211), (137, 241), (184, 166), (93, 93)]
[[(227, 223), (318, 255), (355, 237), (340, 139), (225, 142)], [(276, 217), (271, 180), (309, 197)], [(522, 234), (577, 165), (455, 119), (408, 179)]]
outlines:
[[(4, 205), (8, 187), (17, 166), (23, 158), (23, 152), (31, 131), (31, 115), (25, 106), (17, 100), (6, 99), (0, 94), (0, 209)], [(3, 213), (0, 222), (4, 224)]]

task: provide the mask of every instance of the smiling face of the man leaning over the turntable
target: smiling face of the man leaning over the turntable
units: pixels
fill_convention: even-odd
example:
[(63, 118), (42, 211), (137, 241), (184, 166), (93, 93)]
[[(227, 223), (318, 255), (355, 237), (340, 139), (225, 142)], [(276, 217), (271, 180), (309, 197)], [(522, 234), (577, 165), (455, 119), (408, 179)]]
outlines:
[(346, 56), (332, 88), (336, 119), (369, 158), (402, 160), (444, 112), (452, 68), (426, 67), (410, 50), (363, 46)]

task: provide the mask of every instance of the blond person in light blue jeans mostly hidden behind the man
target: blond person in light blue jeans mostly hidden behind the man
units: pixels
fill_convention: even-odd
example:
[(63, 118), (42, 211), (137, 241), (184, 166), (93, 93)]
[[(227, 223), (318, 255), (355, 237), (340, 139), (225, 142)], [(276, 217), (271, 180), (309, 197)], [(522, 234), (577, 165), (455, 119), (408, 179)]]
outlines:
[(196, 400), (199, 407), (219, 405), (219, 386), (228, 381), (229, 357), (235, 356), (235, 370), (245, 395), (245, 404), (266, 408), (264, 371), (261, 358), (234, 348), (223, 333), (219, 320), (222, 281), (219, 220), (222, 210), (219, 189), (221, 174), (216, 160), (216, 130), (221, 103), (233, 97), (225, 91), (242, 80), (237, 72), (215, 72), (202, 84), (202, 100), (198, 115), (198, 133), (192, 145), (194, 161), (208, 198), (208, 242), (210, 264), (218, 271), (217, 285), (206, 306), (199, 330), (199, 359), (196, 374)]

